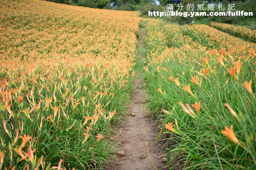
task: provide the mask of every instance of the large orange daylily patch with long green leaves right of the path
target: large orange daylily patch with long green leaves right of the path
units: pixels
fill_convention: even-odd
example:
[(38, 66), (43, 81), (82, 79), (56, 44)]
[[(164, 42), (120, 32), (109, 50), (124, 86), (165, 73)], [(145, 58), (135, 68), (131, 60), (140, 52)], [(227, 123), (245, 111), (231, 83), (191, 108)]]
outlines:
[(144, 70), (175, 169), (256, 166), (256, 44), (206, 25), (148, 23)]

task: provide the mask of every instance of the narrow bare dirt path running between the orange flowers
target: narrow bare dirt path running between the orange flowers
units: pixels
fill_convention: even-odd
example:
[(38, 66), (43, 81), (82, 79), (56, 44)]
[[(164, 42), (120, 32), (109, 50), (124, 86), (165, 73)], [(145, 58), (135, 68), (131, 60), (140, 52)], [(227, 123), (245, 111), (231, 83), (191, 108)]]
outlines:
[[(140, 29), (139, 38), (137, 39), (138, 59), (136, 64), (138, 74), (142, 74), (143, 59), (144, 59), (144, 29)], [(136, 70), (136, 68), (135, 68)], [(126, 117), (126, 122), (122, 127), (121, 134), (120, 128), (115, 130), (113, 139), (115, 142), (120, 144), (121, 149), (118, 151), (124, 151), (125, 155), (123, 157), (117, 157), (114, 164), (109, 169), (114, 170), (149, 170), (155, 169), (150, 162), (148, 157), (146, 142), (148, 142), (148, 149), (150, 152), (150, 157), (157, 169), (161, 168), (161, 159), (158, 158), (161, 150), (161, 146), (154, 144), (156, 140), (156, 126), (150, 120), (150, 117), (145, 117), (147, 112), (147, 107), (145, 106), (145, 100), (147, 100), (147, 94), (143, 87), (141, 87), (140, 81), (141, 76), (134, 79), (134, 91), (131, 97), (131, 102), (128, 105), (128, 111), (130, 114), (135, 114), (135, 116), (128, 115)], [(108, 169), (108, 168), (107, 168)]]

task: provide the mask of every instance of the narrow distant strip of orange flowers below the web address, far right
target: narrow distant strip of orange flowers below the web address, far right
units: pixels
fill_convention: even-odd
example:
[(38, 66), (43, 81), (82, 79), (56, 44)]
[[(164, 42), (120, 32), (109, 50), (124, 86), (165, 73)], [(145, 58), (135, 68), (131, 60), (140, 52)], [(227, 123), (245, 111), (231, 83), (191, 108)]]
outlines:
[(244, 37), (252, 42), (256, 42), (256, 31), (246, 28), (245, 26), (233, 26), (230, 24), (211, 22), (210, 26), (213, 28), (231, 33), (233, 35), (237, 35), (240, 37)]

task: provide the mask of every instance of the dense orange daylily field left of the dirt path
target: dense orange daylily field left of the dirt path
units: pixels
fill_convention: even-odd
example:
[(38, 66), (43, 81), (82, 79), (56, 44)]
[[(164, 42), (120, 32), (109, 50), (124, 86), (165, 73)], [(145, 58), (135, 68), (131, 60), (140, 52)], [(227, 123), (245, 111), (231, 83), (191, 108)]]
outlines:
[(92, 169), (113, 156), (134, 76), (137, 13), (1, 1), (2, 169)]

